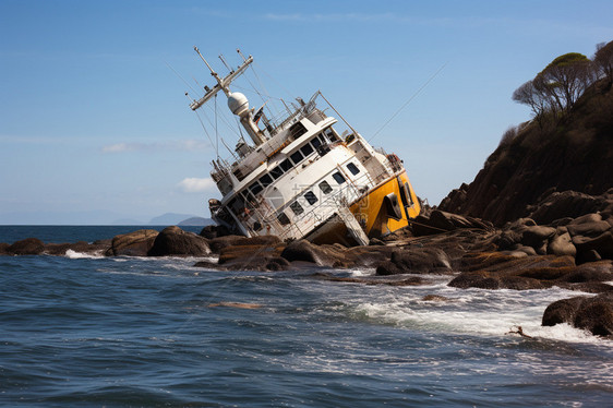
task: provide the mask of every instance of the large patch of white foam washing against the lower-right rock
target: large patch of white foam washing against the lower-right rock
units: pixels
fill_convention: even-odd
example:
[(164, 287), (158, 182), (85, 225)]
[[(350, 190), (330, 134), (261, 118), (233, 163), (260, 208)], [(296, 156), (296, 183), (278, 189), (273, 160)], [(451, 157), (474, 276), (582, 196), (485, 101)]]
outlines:
[[(432, 290), (434, 289), (434, 290)], [(424, 295), (447, 298), (424, 301)], [(404, 292), (386, 293), (354, 304), (358, 317), (424, 331), (506, 336), (521, 327), (524, 334), (534, 337), (570, 343), (603, 340), (590, 333), (558, 324), (541, 326), (543, 312), (556, 300), (579, 296), (568, 290), (480, 290), (449, 287), (411, 288)]]

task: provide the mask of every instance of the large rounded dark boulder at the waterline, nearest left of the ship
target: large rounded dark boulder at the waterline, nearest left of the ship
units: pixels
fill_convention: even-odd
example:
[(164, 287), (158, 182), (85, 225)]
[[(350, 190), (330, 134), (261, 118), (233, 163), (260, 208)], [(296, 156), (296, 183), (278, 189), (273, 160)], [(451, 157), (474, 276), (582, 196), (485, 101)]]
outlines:
[(205, 238), (172, 226), (163, 229), (158, 233), (147, 254), (149, 256), (204, 256), (209, 253), (211, 249)]

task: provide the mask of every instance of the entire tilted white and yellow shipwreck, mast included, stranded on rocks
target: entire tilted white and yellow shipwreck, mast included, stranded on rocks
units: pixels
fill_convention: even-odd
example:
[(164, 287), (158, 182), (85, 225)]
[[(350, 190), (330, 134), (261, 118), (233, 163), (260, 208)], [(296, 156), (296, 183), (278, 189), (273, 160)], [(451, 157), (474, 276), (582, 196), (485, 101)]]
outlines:
[(375, 151), (348, 123), (339, 134), (337, 119), (317, 108), (323, 100), (341, 118), (321, 92), (306, 103), (297, 99), (281, 118), (267, 118), (263, 108), (250, 108), (243, 94), (230, 89), (253, 62), (251, 56), (225, 77), (200, 57), (217, 84), (205, 87), (204, 97), (190, 107), (196, 110), (224, 92), (252, 141), (239, 140), (231, 163), (213, 161), (211, 176), (223, 195), (209, 200), (216, 223), (247, 237), (368, 244), (419, 214), (402, 161)]

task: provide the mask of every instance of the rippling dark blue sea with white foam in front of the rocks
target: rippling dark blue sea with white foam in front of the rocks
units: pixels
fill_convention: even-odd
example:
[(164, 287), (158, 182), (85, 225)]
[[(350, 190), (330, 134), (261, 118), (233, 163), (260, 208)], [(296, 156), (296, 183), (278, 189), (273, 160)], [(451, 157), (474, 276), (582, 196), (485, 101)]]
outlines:
[[(0, 226), (0, 242), (140, 228)], [(0, 256), (0, 406), (613, 406), (613, 343), (541, 326), (553, 301), (592, 295), (456, 289), (440, 275), (370, 286), (313, 277), (370, 268), (217, 272), (200, 260)]]

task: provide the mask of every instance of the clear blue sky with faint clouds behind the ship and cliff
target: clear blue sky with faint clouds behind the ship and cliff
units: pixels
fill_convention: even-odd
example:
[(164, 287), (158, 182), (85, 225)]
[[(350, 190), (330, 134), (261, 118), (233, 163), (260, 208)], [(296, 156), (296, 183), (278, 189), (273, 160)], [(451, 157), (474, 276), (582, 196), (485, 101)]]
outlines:
[(321, 89), (366, 139), (410, 99), (372, 143), (438, 204), (530, 119), (513, 91), (562, 53), (591, 57), (611, 15), (611, 1), (0, 0), (0, 224), (208, 216), (216, 147), (184, 92), (213, 82), (194, 45), (220, 73), (219, 53), (252, 55), (272, 95)]

